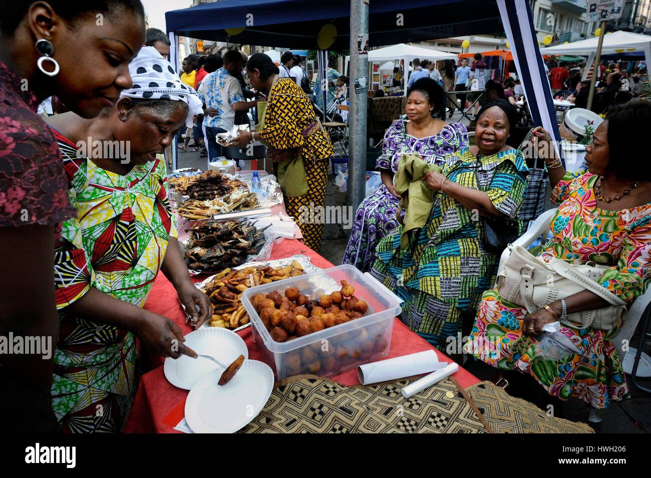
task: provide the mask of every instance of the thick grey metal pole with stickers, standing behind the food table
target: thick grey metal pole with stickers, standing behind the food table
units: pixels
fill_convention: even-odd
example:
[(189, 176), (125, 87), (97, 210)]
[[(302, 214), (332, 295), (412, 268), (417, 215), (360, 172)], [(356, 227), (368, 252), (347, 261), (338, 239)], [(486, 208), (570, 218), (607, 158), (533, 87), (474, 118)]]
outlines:
[(355, 78), (368, 85), (368, 54), (359, 55), (357, 35), (368, 35), (368, 1), (350, 0), (350, 129), (348, 147), (348, 203), (357, 209), (366, 193), (368, 87), (355, 91)]

